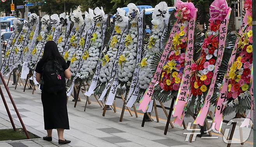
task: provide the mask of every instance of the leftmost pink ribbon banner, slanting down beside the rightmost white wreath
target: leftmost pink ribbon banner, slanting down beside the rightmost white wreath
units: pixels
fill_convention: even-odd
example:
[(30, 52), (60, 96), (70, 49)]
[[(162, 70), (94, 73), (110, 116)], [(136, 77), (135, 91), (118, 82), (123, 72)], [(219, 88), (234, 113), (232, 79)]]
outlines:
[(154, 87), (155, 87), (156, 83), (159, 82), (161, 72), (162, 72), (162, 69), (163, 69), (163, 64), (167, 60), (168, 53), (170, 52), (170, 50), (172, 48), (172, 39), (173, 39), (175, 33), (177, 32), (177, 30), (179, 29), (177, 24), (178, 24), (178, 21), (176, 21), (174, 26), (172, 27), (172, 31), (170, 33), (168, 43), (166, 44), (165, 50), (162, 53), (162, 56), (161, 56), (161, 59), (158, 63), (158, 66), (156, 68), (156, 72), (154, 74), (154, 77), (151, 80), (151, 82), (149, 84), (149, 87), (147, 88), (146, 92), (144, 93), (142, 100), (140, 101), (138, 110), (142, 110), (143, 112), (146, 112), (147, 108), (149, 107), (149, 103), (152, 100), (152, 96), (153, 96), (153, 93), (154, 93)]

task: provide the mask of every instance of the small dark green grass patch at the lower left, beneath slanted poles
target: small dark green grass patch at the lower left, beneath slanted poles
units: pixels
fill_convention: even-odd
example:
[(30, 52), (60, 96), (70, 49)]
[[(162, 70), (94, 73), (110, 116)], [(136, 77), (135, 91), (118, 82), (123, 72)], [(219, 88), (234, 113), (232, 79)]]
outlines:
[[(24, 140), (27, 139), (25, 132), (21, 128), (16, 128), (17, 131), (13, 129), (0, 129), (0, 141), (4, 140)], [(30, 139), (40, 138), (33, 133), (28, 131)]]

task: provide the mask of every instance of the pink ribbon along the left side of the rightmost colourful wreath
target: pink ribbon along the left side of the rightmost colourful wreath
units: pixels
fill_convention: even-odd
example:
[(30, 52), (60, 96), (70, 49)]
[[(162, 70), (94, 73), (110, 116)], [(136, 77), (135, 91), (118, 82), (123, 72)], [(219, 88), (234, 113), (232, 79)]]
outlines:
[[(250, 14), (250, 12), (246, 12), (245, 17), (243, 19), (242, 25), (240, 27), (239, 30), (239, 34), (241, 35), (244, 28), (247, 26), (247, 16)], [(235, 62), (235, 56), (236, 56), (236, 52), (237, 52), (237, 44), (238, 44), (239, 38), (236, 41), (236, 46), (234, 47), (230, 60), (228, 62), (228, 68), (227, 68), (227, 73), (230, 72), (230, 67), (232, 66), (232, 64)], [(215, 129), (216, 131), (221, 131), (221, 126), (222, 126), (222, 122), (223, 122), (223, 110), (226, 106), (223, 105), (224, 101), (226, 101), (227, 99), (227, 95), (228, 95), (228, 77), (226, 77), (226, 75), (224, 76), (223, 79), (223, 86), (222, 89), (219, 93), (219, 97), (217, 98), (217, 105), (215, 108), (215, 114), (214, 114), (214, 119), (213, 119), (213, 124), (212, 124), (212, 129)]]

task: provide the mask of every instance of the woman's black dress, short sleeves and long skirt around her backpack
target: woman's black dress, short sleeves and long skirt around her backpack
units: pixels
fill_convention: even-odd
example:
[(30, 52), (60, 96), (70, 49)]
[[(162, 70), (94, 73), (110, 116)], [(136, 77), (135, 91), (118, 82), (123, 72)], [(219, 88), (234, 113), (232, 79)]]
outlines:
[[(64, 71), (68, 69), (64, 59), (60, 65)], [(35, 72), (42, 74), (42, 66), (44, 63), (39, 61)], [(63, 89), (58, 93), (47, 93), (42, 90), (41, 99), (44, 109), (44, 129), (69, 129), (66, 90)]]

